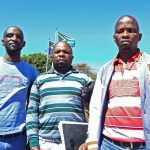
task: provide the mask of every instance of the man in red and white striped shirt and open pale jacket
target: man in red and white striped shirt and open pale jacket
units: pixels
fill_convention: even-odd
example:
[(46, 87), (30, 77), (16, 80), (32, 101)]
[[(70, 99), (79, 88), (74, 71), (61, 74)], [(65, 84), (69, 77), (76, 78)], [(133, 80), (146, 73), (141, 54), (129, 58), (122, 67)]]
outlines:
[(150, 56), (138, 48), (141, 37), (134, 17), (118, 19), (119, 52), (97, 75), (88, 139), (80, 150), (150, 149)]

